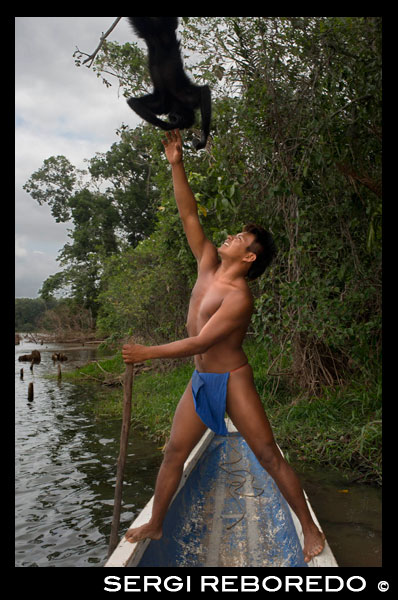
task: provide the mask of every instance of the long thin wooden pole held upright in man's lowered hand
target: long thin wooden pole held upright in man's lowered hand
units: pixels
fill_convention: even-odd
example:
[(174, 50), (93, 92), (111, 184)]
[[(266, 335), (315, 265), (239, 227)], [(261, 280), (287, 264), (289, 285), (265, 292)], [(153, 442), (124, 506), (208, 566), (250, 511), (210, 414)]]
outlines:
[[(130, 343), (134, 342), (130, 340)], [(111, 527), (111, 535), (109, 539), (108, 547), (108, 558), (116, 548), (119, 542), (119, 524), (120, 524), (120, 508), (122, 504), (122, 488), (123, 488), (123, 475), (124, 467), (126, 464), (127, 446), (130, 431), (131, 421), (131, 397), (133, 390), (134, 380), (134, 365), (126, 365), (124, 372), (123, 381), (123, 418), (122, 418), (122, 431), (120, 434), (120, 451), (117, 459), (117, 474), (116, 474), (116, 486), (115, 486), (115, 502), (113, 505), (113, 519)]]

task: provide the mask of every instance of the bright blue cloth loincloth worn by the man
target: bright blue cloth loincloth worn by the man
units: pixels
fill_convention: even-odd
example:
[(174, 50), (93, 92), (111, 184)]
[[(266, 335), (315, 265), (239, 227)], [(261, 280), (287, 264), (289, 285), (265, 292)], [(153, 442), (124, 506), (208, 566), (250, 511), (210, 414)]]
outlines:
[(224, 421), (228, 379), (229, 373), (199, 373), (196, 369), (192, 375), (196, 413), (219, 435), (228, 435)]

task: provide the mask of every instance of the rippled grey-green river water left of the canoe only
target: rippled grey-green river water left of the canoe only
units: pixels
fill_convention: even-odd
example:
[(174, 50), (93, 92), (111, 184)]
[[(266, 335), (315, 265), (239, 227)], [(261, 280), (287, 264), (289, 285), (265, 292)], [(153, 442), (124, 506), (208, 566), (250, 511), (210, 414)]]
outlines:
[[(24, 368), (20, 380), (18, 356), (27, 353), (27, 345), (16, 346), (15, 564), (102, 566), (112, 520), (120, 419), (96, 418), (98, 388), (43, 378), (48, 372), (56, 374), (57, 366), (51, 352), (40, 351), (41, 363), (33, 372)], [(67, 353), (70, 360), (63, 369), (95, 356), (92, 349)], [(30, 381), (33, 402), (27, 401)], [(152, 496), (160, 460), (156, 445), (132, 432), (121, 535)]]

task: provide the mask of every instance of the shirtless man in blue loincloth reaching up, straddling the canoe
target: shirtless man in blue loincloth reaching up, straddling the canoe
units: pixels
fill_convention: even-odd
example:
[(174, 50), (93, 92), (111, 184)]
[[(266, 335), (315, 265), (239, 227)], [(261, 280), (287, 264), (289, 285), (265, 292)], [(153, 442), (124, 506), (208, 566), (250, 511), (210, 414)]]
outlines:
[[(156, 481), (151, 519), (142, 527), (129, 529), (126, 539), (137, 542), (162, 536), (162, 523), (180, 482), (185, 460), (207, 425), (222, 433), (226, 409), (235, 427), (273, 477), (300, 520), (304, 534), (304, 560), (309, 562), (322, 552), (325, 537), (311, 517), (297, 475), (275, 443), (254, 386), (252, 369), (242, 349), (253, 312), (253, 298), (245, 278), (253, 278), (255, 262), (260, 262), (260, 273), (256, 273), (254, 268), (254, 278), (271, 261), (274, 253), (272, 237), (261, 227), (248, 226), (237, 235), (229, 235), (220, 248), (216, 248), (205, 237), (198, 218), (196, 201), (184, 170), (180, 133), (178, 130), (171, 131), (166, 136), (163, 144), (172, 167), (175, 199), (189, 246), (198, 263), (198, 278), (187, 319), (189, 337), (160, 346), (124, 345), (122, 355), (125, 363), (194, 356), (196, 370), (174, 415), (170, 440)], [(264, 244), (264, 240), (268, 240), (268, 244)], [(248, 274), (250, 268), (252, 270)], [(203, 396), (207, 385), (204, 380), (208, 377), (220, 378), (216, 388), (224, 386), (224, 404), (222, 397), (211, 397), (214, 387), (210, 387), (207, 397), (206, 393)], [(203, 383), (206, 383), (204, 388), (201, 387)], [(208, 398), (210, 402), (206, 403)], [(212, 403), (216, 405), (218, 414), (214, 413)]]

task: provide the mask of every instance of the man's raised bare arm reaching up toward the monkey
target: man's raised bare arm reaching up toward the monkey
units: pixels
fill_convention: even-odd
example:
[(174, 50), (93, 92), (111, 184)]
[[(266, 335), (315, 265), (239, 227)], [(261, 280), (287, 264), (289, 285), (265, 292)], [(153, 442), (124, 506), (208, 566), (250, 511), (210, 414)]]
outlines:
[(184, 227), (188, 244), (196, 260), (200, 262), (206, 246), (213, 244), (206, 238), (198, 217), (196, 200), (188, 183), (182, 160), (182, 140), (180, 132), (166, 132), (166, 140), (162, 140), (166, 149), (166, 157), (171, 164), (174, 195), (178, 212)]

